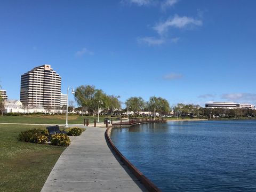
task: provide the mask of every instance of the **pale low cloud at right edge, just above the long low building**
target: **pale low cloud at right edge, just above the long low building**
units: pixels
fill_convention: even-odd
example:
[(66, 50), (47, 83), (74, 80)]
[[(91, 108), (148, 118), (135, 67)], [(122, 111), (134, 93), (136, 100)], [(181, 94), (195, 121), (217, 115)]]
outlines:
[(255, 93), (226, 93), (221, 95), (221, 99), (243, 101), (243, 102), (255, 102)]

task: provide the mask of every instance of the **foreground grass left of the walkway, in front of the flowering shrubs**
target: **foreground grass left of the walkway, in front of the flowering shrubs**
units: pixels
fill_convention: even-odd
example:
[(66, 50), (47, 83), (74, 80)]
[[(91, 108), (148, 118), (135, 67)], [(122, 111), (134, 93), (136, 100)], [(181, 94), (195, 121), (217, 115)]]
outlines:
[(44, 126), (0, 125), (0, 191), (40, 191), (66, 147), (25, 143), (21, 131)]

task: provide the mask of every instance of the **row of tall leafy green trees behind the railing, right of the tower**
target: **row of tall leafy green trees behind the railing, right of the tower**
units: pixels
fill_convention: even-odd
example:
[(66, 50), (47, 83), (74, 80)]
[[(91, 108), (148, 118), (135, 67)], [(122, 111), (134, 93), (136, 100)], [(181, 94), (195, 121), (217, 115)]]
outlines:
[[(88, 111), (93, 116), (98, 114), (99, 108), (107, 115), (113, 115), (115, 111), (121, 110), (122, 102), (119, 98), (118, 95), (108, 95), (92, 85), (81, 85), (75, 90), (75, 100), (79, 109)], [(133, 111), (134, 115), (139, 115), (140, 111), (158, 112), (161, 115), (170, 112), (169, 102), (161, 97), (150, 97), (149, 101), (144, 101), (141, 97), (131, 97), (125, 101), (125, 106), (125, 111)]]

